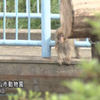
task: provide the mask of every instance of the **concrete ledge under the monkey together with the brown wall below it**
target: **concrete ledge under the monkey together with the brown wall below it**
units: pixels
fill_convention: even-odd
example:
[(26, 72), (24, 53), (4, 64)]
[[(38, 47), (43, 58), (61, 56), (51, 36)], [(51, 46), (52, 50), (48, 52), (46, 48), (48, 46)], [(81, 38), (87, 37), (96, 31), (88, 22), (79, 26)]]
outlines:
[[(66, 93), (69, 90), (63, 87), (61, 82), (82, 78), (80, 76), (81, 69), (77, 67), (82, 59), (72, 58), (70, 66), (59, 66), (56, 60), (57, 57), (2, 55), (0, 56), (0, 81), (21, 80), (24, 82), (23, 89), (27, 92), (33, 90), (43, 94), (46, 91)], [(6, 88), (6, 93), (17, 92), (15, 88)]]

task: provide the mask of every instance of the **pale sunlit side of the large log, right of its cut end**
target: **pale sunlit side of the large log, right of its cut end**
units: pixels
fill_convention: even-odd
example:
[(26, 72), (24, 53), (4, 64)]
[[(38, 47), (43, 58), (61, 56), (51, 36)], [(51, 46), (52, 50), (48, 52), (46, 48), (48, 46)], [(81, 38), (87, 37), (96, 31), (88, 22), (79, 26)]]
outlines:
[(100, 0), (72, 0), (74, 29), (90, 27), (85, 18), (94, 19), (94, 12), (100, 12)]

